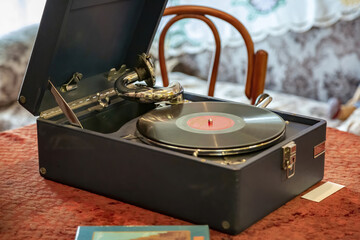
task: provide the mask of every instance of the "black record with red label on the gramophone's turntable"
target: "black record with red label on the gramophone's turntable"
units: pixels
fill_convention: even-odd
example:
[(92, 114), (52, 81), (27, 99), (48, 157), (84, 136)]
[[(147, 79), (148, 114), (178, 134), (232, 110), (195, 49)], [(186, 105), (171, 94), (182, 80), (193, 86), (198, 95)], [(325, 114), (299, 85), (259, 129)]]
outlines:
[(195, 102), (154, 109), (139, 118), (137, 130), (151, 144), (197, 155), (231, 155), (275, 143), (285, 122), (264, 108)]

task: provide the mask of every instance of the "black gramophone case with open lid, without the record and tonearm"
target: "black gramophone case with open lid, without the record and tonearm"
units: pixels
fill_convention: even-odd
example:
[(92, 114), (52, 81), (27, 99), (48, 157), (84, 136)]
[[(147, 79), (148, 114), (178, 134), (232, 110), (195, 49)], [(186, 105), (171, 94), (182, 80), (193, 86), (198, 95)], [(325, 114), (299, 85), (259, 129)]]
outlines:
[[(75, 72), (84, 77), (67, 102), (112, 88), (110, 68), (133, 66), (147, 52), (165, 0), (51, 0), (20, 92), (34, 115), (56, 107), (58, 89)], [(217, 99), (187, 94), (192, 101)], [(320, 181), (326, 123), (277, 112), (284, 139), (253, 153), (211, 159), (116, 137), (126, 122), (154, 108), (122, 99), (102, 110), (77, 111), (84, 129), (63, 115), (38, 118), (40, 174), (144, 208), (237, 234)], [(85, 113), (84, 113), (85, 112)], [(296, 146), (295, 174), (284, 170), (284, 146)], [(286, 167), (285, 167), (286, 169)], [(288, 174), (289, 175), (289, 174)]]

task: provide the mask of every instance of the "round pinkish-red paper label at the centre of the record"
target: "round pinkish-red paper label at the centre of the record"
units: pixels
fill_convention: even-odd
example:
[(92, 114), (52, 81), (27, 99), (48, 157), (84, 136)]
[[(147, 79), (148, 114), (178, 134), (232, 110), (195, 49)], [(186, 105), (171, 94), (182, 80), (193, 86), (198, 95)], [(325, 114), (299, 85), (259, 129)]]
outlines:
[(235, 124), (234, 120), (230, 118), (216, 115), (193, 117), (190, 118), (186, 123), (191, 128), (209, 131), (231, 128)]

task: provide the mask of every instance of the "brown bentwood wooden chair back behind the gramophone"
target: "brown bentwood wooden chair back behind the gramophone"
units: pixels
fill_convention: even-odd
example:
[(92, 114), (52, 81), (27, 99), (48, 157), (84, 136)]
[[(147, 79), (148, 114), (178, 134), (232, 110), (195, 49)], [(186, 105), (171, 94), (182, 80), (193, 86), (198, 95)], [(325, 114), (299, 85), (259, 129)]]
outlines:
[(254, 43), (251, 39), (249, 32), (246, 30), (244, 25), (242, 25), (235, 17), (231, 16), (228, 13), (222, 12), (220, 10), (203, 7), (203, 6), (175, 6), (165, 9), (164, 16), (175, 15), (169, 20), (169, 22), (163, 28), (160, 39), (159, 39), (159, 63), (160, 71), (163, 79), (164, 86), (169, 85), (166, 63), (165, 63), (165, 54), (164, 54), (164, 42), (165, 35), (169, 28), (177, 21), (184, 18), (195, 18), (205, 22), (213, 32), (215, 38), (215, 54), (213, 58), (212, 68), (210, 69), (211, 74), (209, 75), (208, 80), (208, 96), (214, 96), (215, 83), (218, 74), (219, 68), (219, 59), (221, 51), (221, 43), (219, 33), (214, 25), (214, 23), (205, 15), (214, 16), (219, 19), (222, 19), (237, 29), (241, 36), (243, 37), (247, 49), (248, 55), (248, 66), (247, 66), (247, 76), (246, 76), (246, 85), (245, 85), (245, 94), (248, 99), (251, 100), (251, 103), (254, 104), (258, 95), (264, 91), (265, 86), (265, 76), (266, 76), (266, 67), (267, 67), (267, 52), (264, 50), (258, 50), (254, 52)]

